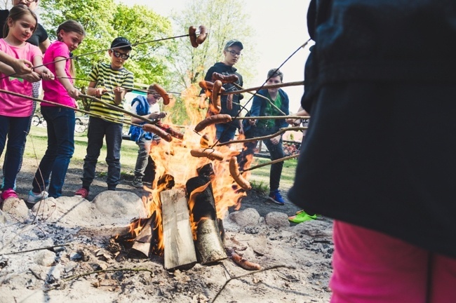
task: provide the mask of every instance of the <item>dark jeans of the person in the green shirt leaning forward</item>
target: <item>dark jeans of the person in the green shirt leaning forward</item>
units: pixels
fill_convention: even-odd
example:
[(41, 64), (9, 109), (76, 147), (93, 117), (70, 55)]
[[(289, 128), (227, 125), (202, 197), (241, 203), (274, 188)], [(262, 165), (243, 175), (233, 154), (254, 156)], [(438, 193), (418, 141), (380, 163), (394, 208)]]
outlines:
[[(257, 128), (252, 126), (250, 130), (246, 132), (246, 138), (261, 137), (276, 133), (276, 129), (271, 128)], [(270, 139), (263, 140), (271, 155), (271, 161), (281, 159), (285, 156), (283, 153), (283, 141), (280, 138), (279, 143), (273, 144)], [(244, 148), (241, 154), (238, 156), (239, 169), (242, 170), (246, 164), (246, 156), (255, 152), (257, 141), (244, 143)], [(282, 175), (283, 161), (279, 163), (271, 164), (271, 170), (269, 172), (269, 189), (275, 191), (279, 189), (280, 179)]]

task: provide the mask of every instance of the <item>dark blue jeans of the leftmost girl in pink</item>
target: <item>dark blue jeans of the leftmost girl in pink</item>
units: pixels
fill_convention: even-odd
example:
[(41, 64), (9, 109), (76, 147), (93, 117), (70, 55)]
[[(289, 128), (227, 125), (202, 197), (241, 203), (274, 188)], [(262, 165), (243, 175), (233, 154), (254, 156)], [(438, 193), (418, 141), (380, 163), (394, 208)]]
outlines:
[[(27, 137), (30, 117), (0, 116), (0, 156), (5, 146), (8, 161), (4, 162), (4, 189), (13, 189), (20, 163), (22, 163), (22, 147)], [(6, 137), (8, 136), (8, 144)]]

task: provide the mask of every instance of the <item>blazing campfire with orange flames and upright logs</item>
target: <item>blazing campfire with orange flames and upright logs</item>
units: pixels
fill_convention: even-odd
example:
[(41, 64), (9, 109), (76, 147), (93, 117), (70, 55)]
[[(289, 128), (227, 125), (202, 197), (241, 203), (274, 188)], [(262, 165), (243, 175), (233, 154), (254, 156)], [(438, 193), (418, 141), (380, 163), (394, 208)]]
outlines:
[[(183, 96), (186, 95), (183, 99), (187, 114), (191, 124), (196, 125), (206, 113), (197, 109), (195, 97), (189, 97), (197, 95), (195, 92)], [(170, 121), (164, 123), (172, 125)], [(207, 148), (214, 138), (214, 126), (205, 128), (203, 133), (189, 128), (182, 140), (161, 140), (152, 147), (150, 156), (156, 163), (157, 178), (153, 189), (145, 187), (148, 196), (142, 197), (147, 217), (135, 218), (128, 231), (115, 236), (127, 255), (163, 256), (166, 269), (227, 258), (222, 219), (229, 207), (239, 209), (246, 191), (229, 171), (230, 159), (239, 154), (236, 147), (215, 147), (217, 154), (223, 155), (222, 160), (192, 156), (192, 151)]]

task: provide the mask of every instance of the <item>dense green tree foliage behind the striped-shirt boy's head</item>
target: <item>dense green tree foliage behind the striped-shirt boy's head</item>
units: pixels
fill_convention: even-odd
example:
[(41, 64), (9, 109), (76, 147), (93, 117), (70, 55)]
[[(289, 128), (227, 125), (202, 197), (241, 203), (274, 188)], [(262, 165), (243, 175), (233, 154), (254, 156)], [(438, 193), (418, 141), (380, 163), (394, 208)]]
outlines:
[[(175, 52), (173, 43), (152, 42), (172, 35), (170, 21), (146, 6), (128, 7), (114, 0), (42, 0), (41, 18), (51, 41), (55, 41), (58, 25), (65, 20), (76, 20), (86, 29), (74, 55), (83, 55), (76, 63), (76, 78), (87, 79), (99, 62), (109, 62), (107, 49), (116, 36), (125, 36), (133, 46), (125, 67), (135, 74), (135, 82), (170, 83), (168, 62)], [(101, 50), (101, 51), (100, 51)], [(87, 81), (76, 81), (76, 86), (87, 86)]]

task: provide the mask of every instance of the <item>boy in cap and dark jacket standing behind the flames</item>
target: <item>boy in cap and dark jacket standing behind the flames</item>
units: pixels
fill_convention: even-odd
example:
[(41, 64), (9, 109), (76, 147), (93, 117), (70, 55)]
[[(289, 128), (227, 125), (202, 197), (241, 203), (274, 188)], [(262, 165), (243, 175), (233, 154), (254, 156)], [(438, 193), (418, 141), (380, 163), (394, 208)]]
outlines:
[[(224, 60), (222, 62), (217, 62), (215, 63), (215, 65), (213, 65), (213, 67), (210, 67), (210, 69), (208, 69), (208, 72), (206, 73), (206, 76), (204, 77), (204, 80), (213, 82), (212, 74), (214, 72), (223, 75), (236, 74), (239, 80), (235, 83), (239, 86), (243, 86), (242, 76), (241, 74), (236, 72), (237, 69), (236, 67), (234, 67), (234, 65), (238, 62), (239, 58), (241, 58), (241, 50), (243, 50), (243, 45), (241, 41), (229, 40), (225, 44), (223, 49)], [(236, 86), (234, 86), (233, 83), (224, 83), (223, 87), (226, 91), (238, 90), (238, 88), (236, 88)], [(204, 93), (203, 89), (201, 90), (200, 96), (206, 98), (206, 94)], [(243, 98), (243, 95), (236, 94), (232, 96), (233, 109), (229, 110), (227, 109), (228, 96), (222, 95), (220, 99), (220, 101), (222, 102), (222, 110), (220, 111), (220, 114), (229, 114), (230, 116), (237, 116), (239, 114), (239, 111), (241, 110), (239, 101)], [(233, 140), (234, 134), (236, 133), (236, 128), (239, 128), (239, 133), (243, 133), (241, 120), (236, 120), (234, 122), (229, 123), (216, 124), (215, 128), (217, 130), (217, 133), (215, 135), (217, 136), (217, 140), (219, 140), (220, 143)]]

